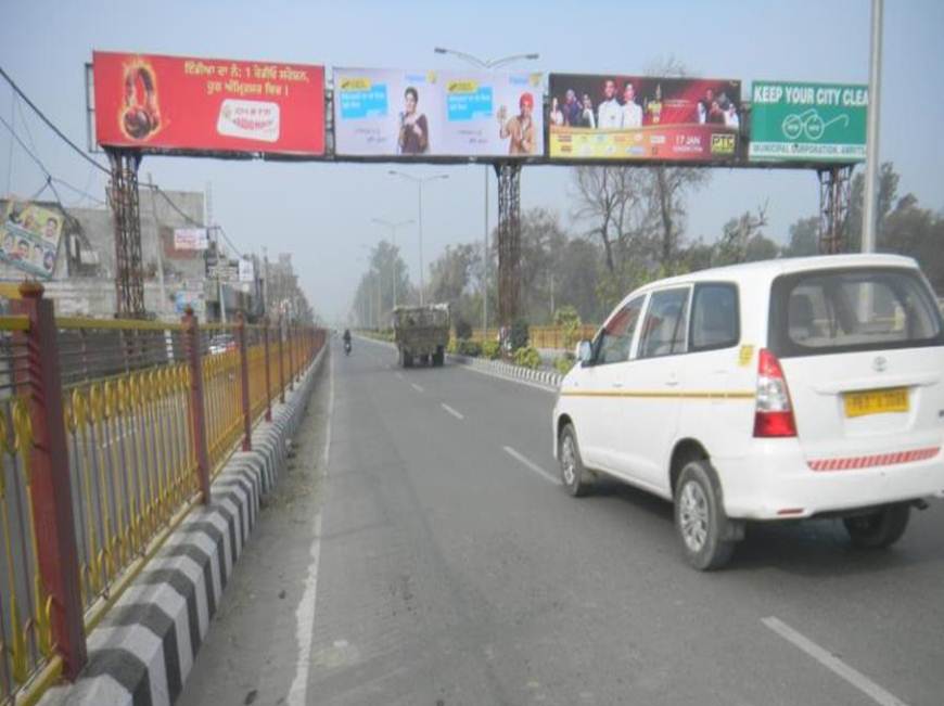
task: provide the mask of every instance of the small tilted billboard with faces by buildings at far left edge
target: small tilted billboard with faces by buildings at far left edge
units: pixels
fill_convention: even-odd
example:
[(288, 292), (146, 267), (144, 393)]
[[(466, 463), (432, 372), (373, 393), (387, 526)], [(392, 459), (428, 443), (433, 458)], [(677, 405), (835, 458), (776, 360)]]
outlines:
[(62, 214), (11, 200), (0, 221), (0, 260), (29, 274), (51, 279), (62, 226)]

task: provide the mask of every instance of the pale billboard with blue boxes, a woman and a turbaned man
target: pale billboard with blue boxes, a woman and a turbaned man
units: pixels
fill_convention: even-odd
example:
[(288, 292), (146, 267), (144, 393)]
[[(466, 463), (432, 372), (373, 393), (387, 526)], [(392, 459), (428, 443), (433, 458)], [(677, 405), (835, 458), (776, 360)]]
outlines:
[(541, 76), (334, 68), (334, 151), (365, 157), (544, 155)]

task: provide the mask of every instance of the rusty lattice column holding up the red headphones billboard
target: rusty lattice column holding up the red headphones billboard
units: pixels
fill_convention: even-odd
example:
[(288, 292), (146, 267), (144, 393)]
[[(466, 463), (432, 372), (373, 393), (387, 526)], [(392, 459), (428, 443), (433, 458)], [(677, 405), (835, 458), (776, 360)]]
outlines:
[(144, 316), (144, 269), (138, 194), (141, 153), (109, 150), (107, 154), (112, 166), (109, 201), (115, 226), (116, 315), (120, 319), (139, 319)]

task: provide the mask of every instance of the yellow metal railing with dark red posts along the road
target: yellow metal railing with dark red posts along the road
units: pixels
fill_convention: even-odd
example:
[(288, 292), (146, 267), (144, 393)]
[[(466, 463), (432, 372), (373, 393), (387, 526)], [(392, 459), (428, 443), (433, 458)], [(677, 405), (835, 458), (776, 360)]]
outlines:
[[(56, 679), (76, 673), (84, 650), (63, 644), (63, 626), (77, 625), (84, 641), (203, 498), (197, 441), (215, 476), (241, 440), (250, 442), (247, 421), (265, 415), (324, 342), (323, 331), (296, 326), (56, 319), (51, 308), (42, 319), (43, 303), (28, 309), (26, 298), (33, 313), (0, 316), (0, 706), (35, 703)], [(54, 352), (48, 343), (30, 345), (35, 321), (50, 322)], [(56, 375), (39, 380), (37, 365), (52, 365)], [(62, 401), (56, 414), (34, 394), (51, 380)], [(63, 429), (61, 453), (43, 457), (43, 478), (64, 484), (58, 500), (35, 493), (37, 419), (43, 433), (53, 419)], [(75, 615), (62, 615), (56, 591), (68, 576), (47, 574), (60, 557), (49, 555), (37, 530), (56, 502), (66, 503), (74, 525), (65, 532), (71, 559), (59, 564), (64, 574), (74, 567)]]

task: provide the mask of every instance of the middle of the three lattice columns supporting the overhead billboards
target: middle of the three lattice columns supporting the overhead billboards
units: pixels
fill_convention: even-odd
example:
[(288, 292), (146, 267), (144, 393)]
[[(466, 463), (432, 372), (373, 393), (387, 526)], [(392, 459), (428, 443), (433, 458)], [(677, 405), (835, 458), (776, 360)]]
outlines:
[(498, 322), (510, 326), (521, 300), (521, 165), (497, 164)]

